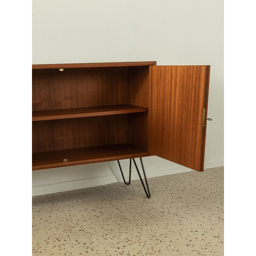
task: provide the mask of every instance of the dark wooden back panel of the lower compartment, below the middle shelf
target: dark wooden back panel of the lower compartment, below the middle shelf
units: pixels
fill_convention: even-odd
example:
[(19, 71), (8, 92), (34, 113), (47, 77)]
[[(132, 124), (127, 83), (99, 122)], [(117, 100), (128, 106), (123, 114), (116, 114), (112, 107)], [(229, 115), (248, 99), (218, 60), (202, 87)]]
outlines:
[(128, 114), (32, 123), (32, 152), (128, 143)]

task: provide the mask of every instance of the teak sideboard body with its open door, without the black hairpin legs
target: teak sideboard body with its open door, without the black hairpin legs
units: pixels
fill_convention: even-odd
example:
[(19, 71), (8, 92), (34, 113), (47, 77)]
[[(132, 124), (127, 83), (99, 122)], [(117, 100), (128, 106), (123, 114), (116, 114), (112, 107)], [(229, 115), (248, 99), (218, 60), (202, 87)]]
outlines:
[(155, 155), (203, 171), (209, 74), (156, 61), (32, 65), (32, 170)]

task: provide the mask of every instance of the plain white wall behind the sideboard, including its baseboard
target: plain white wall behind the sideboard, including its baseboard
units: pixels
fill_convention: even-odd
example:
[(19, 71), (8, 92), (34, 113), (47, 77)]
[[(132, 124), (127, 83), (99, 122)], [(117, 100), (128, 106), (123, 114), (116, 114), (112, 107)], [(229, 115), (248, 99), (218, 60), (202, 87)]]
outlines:
[[(33, 0), (33, 64), (211, 65), (205, 168), (224, 165), (223, 0)], [(128, 160), (121, 161), (128, 170)], [(148, 177), (190, 171), (144, 158)], [(134, 168), (133, 168), (133, 171)], [(127, 171), (126, 171), (127, 172)], [(133, 179), (138, 179), (133, 173)], [(117, 162), (33, 172), (33, 194), (121, 181)]]

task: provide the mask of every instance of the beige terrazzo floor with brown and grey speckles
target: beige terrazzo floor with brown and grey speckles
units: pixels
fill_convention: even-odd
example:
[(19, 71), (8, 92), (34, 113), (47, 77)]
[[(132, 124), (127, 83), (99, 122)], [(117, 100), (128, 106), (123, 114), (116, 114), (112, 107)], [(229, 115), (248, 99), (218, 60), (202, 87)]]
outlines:
[(33, 197), (33, 255), (224, 255), (224, 167)]

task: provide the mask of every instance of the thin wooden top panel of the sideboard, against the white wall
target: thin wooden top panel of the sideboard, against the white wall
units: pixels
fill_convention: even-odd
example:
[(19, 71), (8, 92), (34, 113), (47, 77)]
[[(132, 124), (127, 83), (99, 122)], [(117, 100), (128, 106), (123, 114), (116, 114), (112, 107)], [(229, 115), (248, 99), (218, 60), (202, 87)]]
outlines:
[(32, 69), (41, 69), (41, 68), (98, 68), (98, 67), (128, 67), (128, 66), (154, 66), (154, 65), (156, 65), (156, 61), (71, 63), (71, 64), (35, 64), (35, 65), (32, 65)]

